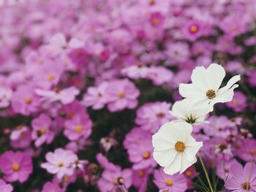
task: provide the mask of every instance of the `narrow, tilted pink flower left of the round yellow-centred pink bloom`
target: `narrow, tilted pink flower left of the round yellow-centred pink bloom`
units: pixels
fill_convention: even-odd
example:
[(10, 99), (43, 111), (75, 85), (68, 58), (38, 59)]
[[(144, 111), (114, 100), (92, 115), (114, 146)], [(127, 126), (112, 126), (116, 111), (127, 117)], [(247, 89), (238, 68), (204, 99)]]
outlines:
[(48, 115), (42, 113), (38, 118), (34, 118), (32, 124), (32, 139), (35, 140), (36, 147), (41, 146), (43, 143), (50, 144), (54, 139), (54, 132), (51, 130), (52, 120)]

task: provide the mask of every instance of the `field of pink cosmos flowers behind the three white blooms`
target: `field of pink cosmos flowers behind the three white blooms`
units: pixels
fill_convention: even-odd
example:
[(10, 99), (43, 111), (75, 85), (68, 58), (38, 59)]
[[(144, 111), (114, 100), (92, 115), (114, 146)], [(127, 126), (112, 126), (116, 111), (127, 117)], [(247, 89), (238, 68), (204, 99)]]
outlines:
[(200, 164), (165, 174), (152, 135), (184, 112), (173, 107), (178, 86), (214, 62), (241, 74), (240, 86), (193, 137), (216, 190), (256, 191), (255, 9), (255, 0), (0, 1), (0, 191), (200, 191)]

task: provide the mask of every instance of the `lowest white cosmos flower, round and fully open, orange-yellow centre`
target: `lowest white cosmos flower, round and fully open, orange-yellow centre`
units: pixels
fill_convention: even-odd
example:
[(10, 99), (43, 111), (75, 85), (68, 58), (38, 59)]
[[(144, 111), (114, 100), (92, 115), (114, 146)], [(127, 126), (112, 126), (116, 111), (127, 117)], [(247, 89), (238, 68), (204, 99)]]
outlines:
[(203, 142), (196, 142), (191, 133), (191, 124), (170, 122), (153, 135), (154, 160), (165, 167), (166, 174), (182, 173), (197, 161), (195, 155)]

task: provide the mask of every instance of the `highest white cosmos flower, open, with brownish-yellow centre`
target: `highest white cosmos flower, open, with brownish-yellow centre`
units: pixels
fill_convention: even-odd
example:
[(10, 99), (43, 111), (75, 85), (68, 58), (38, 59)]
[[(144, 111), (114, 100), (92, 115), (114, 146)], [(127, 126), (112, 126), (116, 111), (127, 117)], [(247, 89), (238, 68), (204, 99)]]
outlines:
[(210, 104), (213, 110), (216, 103), (232, 101), (234, 89), (238, 88), (238, 84), (235, 83), (240, 80), (240, 75), (232, 77), (225, 87), (219, 88), (224, 77), (225, 69), (218, 64), (211, 64), (207, 69), (197, 66), (192, 72), (192, 83), (181, 83), (179, 93), (195, 106)]

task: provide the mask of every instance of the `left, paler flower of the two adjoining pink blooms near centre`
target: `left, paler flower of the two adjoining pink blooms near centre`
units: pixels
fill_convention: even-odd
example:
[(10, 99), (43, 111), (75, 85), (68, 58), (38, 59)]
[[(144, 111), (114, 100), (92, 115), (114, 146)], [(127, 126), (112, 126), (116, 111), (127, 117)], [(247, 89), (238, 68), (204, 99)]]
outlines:
[(92, 107), (94, 110), (100, 110), (107, 104), (105, 92), (108, 88), (108, 82), (102, 82), (97, 87), (89, 87), (87, 93), (83, 95), (82, 103), (86, 107)]

